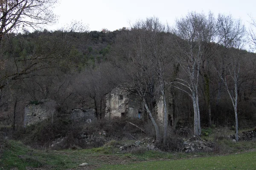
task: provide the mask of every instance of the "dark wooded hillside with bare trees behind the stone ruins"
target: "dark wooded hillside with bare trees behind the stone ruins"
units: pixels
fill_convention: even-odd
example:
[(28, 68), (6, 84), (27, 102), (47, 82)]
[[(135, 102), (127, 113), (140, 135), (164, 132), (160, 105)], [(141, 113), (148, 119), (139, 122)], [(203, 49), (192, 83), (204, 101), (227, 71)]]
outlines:
[(151, 17), (113, 32), (73, 29), (3, 36), (1, 122), (22, 122), (24, 107), (43, 99), (63, 111), (94, 107), (104, 117), (105, 95), (128, 84), (146, 112), (162, 96), (172, 126), (193, 127), (194, 115), (199, 128), (233, 126), (235, 112), (240, 126), (253, 126), (256, 58), (244, 48), (240, 20), (191, 12), (175, 27)]

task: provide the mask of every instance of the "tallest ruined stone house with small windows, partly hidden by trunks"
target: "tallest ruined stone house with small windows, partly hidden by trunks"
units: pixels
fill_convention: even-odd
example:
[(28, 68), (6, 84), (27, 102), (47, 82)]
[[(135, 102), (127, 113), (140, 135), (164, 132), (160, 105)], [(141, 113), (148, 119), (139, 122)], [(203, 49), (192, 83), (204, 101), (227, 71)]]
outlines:
[[(146, 115), (143, 100), (140, 98), (140, 96), (136, 92), (127, 90), (121, 86), (114, 88), (106, 96), (105, 110), (106, 118), (143, 118), (143, 115)], [(160, 98), (157, 101), (156, 107), (154, 109), (154, 115), (156, 115), (158, 121), (163, 122), (163, 114), (163, 98)]]

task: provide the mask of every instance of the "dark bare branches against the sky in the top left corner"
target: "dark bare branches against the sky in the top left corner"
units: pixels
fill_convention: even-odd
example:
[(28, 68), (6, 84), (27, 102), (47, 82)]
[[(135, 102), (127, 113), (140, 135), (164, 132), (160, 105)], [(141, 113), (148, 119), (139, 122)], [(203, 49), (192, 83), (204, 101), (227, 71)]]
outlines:
[(55, 22), (52, 8), (56, 3), (57, 0), (0, 0), (0, 44), (13, 29)]

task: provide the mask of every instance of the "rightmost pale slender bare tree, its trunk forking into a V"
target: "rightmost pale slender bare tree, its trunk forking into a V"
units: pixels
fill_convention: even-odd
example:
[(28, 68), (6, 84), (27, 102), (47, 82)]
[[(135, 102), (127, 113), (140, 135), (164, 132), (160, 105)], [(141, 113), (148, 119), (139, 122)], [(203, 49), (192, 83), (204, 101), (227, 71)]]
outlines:
[[(236, 141), (238, 141), (237, 102), (241, 56), (239, 49), (242, 48), (245, 28), (241, 20), (234, 20), (231, 15), (219, 14), (217, 30), (218, 43), (224, 46), (224, 51), (221, 53), (221, 60), (215, 65), (233, 104), (236, 119)], [(228, 84), (228, 77), (233, 80), (233, 90), (231, 90), (231, 85)]]

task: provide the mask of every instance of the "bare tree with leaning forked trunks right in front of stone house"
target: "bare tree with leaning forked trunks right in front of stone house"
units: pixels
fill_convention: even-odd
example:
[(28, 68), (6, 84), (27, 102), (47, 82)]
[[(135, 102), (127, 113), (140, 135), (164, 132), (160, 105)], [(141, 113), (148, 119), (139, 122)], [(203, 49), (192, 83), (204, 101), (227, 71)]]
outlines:
[(140, 20), (117, 36), (113, 50), (113, 61), (127, 73), (129, 85), (133, 86), (144, 102), (144, 107), (155, 128), (156, 138), (160, 141), (160, 130), (152, 113), (155, 100), (163, 98), (163, 141), (166, 140), (168, 114), (166, 107), (166, 59), (168, 43), (165, 42), (166, 26), (158, 18)]

